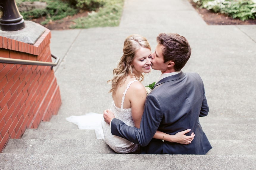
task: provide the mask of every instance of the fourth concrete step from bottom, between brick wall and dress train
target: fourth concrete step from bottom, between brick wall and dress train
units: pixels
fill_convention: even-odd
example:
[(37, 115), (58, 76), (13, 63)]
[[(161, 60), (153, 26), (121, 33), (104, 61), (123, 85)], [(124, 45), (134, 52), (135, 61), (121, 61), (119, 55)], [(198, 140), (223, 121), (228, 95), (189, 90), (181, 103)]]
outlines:
[(40, 122), (38, 129), (78, 129), (74, 123), (66, 122)]

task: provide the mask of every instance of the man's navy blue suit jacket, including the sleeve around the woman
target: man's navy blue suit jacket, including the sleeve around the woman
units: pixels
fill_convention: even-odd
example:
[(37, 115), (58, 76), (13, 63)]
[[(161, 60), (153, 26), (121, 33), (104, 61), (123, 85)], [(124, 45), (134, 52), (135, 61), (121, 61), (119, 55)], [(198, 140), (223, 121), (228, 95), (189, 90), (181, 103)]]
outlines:
[[(180, 72), (166, 77), (155, 85), (146, 98), (140, 129), (118, 119), (111, 122), (111, 133), (141, 146), (142, 154), (206, 154), (212, 147), (199, 123), (209, 107), (204, 84), (197, 73)], [(152, 139), (157, 130), (175, 135), (191, 129), (190, 144), (163, 142)]]

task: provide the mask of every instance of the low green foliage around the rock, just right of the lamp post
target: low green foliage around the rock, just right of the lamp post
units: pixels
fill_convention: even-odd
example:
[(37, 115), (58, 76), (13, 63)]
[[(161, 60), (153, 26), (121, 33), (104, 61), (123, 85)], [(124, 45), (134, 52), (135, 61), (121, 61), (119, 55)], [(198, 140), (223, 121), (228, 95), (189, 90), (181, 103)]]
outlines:
[[(19, 0), (16, 1), (17, 6), (22, 1), (38, 1), (38, 0)], [(41, 24), (47, 24), (50, 20), (59, 20), (67, 17), (68, 15), (74, 15), (78, 12), (76, 7), (72, 6), (68, 1), (62, 0), (41, 0), (46, 2), (46, 9), (32, 9), (31, 11), (20, 12), (25, 20), (31, 20), (33, 18), (40, 18), (46, 16), (46, 20)]]

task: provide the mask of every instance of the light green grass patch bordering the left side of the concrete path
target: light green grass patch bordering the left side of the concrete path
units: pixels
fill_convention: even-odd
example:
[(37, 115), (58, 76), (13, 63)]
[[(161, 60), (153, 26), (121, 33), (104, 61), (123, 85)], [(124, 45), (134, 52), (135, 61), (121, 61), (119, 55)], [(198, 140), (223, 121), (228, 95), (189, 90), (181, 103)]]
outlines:
[(97, 12), (88, 13), (87, 17), (73, 20), (75, 23), (71, 28), (92, 28), (118, 26), (123, 12), (124, 0), (105, 0), (103, 7)]

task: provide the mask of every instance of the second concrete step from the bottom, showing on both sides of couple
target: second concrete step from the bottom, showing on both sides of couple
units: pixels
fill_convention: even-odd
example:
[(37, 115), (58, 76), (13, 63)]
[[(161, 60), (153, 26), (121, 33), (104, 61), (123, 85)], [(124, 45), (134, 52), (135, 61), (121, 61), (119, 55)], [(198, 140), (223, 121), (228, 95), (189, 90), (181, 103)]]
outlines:
[[(255, 141), (210, 140), (208, 155), (256, 155)], [(115, 153), (97, 139), (10, 139), (3, 153)]]

